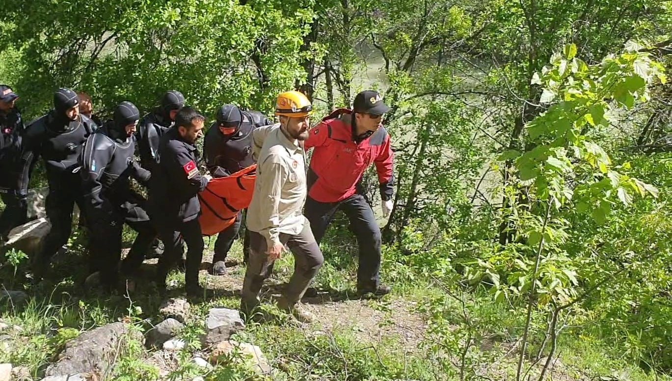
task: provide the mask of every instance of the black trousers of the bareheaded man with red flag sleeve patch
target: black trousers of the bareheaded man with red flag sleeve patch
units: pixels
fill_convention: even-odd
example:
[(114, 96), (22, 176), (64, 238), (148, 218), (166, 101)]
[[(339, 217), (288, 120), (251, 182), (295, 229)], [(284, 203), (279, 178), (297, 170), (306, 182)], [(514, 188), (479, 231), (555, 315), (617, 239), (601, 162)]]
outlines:
[(159, 238), (163, 241), (163, 255), (159, 258), (157, 281), (165, 284), (175, 263), (182, 256), (182, 243), (187, 243), (185, 284), (187, 292), (198, 288), (198, 271), (203, 260), (203, 236), (198, 218), (187, 222), (169, 223), (160, 217), (154, 218)]

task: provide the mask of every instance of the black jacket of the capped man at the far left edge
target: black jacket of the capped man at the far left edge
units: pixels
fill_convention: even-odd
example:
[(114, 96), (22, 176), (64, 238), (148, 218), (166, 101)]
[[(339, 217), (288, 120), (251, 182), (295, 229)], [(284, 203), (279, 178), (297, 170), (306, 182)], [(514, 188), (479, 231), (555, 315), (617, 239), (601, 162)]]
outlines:
[(24, 119), (18, 109), (11, 109), (8, 114), (0, 112), (0, 191), (20, 189), (18, 164), (24, 130)]

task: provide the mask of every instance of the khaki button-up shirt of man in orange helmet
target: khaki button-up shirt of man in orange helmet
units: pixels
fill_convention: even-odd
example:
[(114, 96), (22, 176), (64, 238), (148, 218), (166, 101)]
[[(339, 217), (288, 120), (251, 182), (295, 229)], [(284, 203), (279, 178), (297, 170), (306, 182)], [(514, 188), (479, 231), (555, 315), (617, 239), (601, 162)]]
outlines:
[(257, 180), (247, 209), (247, 228), (272, 246), (280, 243), (280, 233), (296, 235), (308, 223), (301, 211), (308, 191), (305, 152), (282, 132), (279, 123), (255, 129), (253, 139)]

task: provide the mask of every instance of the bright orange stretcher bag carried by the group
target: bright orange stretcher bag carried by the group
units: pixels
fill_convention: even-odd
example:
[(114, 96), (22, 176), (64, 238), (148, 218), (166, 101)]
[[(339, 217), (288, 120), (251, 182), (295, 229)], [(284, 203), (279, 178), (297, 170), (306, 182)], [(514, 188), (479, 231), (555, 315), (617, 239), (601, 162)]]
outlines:
[(213, 178), (198, 194), (203, 235), (215, 235), (236, 221), (239, 211), (249, 207), (254, 193), (257, 164), (226, 177)]

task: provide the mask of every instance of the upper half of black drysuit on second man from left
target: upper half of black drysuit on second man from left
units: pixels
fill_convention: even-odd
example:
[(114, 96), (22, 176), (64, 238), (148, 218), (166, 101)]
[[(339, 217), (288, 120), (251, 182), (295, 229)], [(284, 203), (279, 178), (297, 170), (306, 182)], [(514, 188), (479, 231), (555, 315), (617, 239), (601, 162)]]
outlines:
[(22, 140), (19, 159), (22, 189), (28, 188), (30, 172), (40, 156), (44, 160), (50, 191), (79, 188), (79, 180), (73, 183), (71, 175), (79, 166), (77, 158), (82, 145), (95, 129), (95, 123), (84, 115), (69, 121), (54, 111), (30, 123)]

